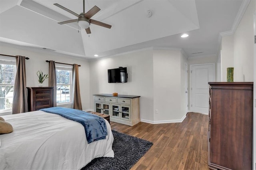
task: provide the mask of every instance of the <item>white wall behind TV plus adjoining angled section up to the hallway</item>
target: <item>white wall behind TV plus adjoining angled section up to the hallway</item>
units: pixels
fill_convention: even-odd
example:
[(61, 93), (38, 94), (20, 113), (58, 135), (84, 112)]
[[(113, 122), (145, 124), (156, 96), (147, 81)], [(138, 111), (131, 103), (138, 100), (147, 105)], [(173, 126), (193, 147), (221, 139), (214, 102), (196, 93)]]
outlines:
[[(140, 95), (141, 121), (180, 122), (186, 115), (185, 61), (180, 51), (153, 49), (92, 60), (90, 107), (94, 109), (92, 95), (98, 93)], [(128, 83), (108, 83), (107, 69), (117, 67), (127, 67)]]

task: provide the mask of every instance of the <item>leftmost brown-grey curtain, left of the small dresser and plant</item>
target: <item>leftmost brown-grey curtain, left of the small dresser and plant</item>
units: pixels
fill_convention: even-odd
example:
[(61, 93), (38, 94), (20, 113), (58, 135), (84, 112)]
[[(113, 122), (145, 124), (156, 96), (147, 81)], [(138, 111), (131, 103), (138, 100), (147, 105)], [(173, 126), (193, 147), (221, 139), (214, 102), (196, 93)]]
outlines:
[(28, 112), (26, 65), (24, 56), (16, 56), (17, 72), (14, 81), (12, 114)]

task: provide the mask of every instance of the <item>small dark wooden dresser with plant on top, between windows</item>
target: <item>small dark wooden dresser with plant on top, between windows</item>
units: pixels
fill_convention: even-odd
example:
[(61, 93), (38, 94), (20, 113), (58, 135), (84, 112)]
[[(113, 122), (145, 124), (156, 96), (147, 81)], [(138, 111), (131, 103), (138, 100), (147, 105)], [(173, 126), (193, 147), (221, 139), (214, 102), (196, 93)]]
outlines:
[(27, 87), (28, 111), (53, 107), (53, 87)]

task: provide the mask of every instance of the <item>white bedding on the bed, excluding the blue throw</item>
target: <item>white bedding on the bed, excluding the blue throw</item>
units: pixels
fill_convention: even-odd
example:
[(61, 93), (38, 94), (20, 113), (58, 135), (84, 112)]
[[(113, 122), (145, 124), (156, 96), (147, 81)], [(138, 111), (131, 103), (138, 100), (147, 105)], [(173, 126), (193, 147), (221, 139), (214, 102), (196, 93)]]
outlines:
[(0, 135), (0, 169), (80, 170), (97, 157), (114, 157), (108, 121), (106, 139), (87, 143), (84, 127), (44, 111), (3, 116), (14, 132)]

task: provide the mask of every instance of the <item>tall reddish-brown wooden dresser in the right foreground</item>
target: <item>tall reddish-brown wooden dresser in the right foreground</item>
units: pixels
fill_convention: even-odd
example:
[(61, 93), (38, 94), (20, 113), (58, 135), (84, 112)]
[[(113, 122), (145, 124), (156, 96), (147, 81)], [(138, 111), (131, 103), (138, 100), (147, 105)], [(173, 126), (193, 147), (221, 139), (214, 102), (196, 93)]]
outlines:
[(253, 82), (209, 82), (208, 166), (252, 169)]

